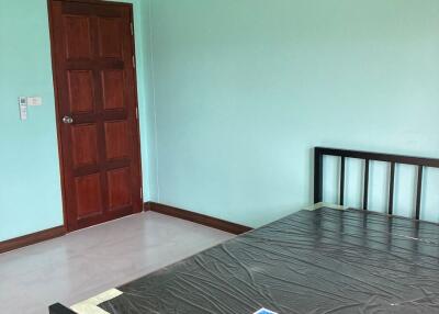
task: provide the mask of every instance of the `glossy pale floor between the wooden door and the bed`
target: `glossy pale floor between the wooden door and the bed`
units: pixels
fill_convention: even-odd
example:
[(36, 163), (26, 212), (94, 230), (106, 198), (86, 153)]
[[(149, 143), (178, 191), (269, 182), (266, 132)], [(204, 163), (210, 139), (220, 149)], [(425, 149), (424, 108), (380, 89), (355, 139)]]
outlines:
[(233, 235), (148, 212), (0, 255), (0, 313), (47, 314)]

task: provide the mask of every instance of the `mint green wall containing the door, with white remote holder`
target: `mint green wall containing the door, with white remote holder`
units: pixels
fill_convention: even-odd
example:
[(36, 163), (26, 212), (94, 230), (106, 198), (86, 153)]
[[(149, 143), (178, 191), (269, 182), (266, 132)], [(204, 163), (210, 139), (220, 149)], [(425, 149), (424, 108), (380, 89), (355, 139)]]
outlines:
[[(139, 105), (145, 116), (149, 96), (140, 14), (147, 1), (143, 1), (134, 4)], [(46, 0), (0, 0), (0, 240), (4, 240), (63, 224)], [(44, 100), (43, 106), (30, 109), (26, 122), (19, 120), (19, 96)], [(147, 134), (143, 123), (144, 165)], [(144, 179), (147, 184), (148, 176)]]

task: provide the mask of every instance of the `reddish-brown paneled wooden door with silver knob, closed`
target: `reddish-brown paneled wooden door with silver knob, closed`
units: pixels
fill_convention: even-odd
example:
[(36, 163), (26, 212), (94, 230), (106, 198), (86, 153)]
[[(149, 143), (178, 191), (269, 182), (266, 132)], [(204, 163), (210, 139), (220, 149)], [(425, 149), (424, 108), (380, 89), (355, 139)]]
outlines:
[(132, 5), (50, 3), (69, 231), (142, 211)]

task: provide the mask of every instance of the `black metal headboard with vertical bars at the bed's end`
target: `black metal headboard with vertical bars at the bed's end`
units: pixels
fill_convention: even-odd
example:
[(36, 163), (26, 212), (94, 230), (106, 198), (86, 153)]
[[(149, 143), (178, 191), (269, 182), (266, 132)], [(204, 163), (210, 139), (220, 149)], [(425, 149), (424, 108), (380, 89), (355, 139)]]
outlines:
[(346, 158), (362, 159), (365, 161), (363, 173), (363, 210), (368, 209), (369, 201), (369, 166), (370, 161), (385, 161), (391, 165), (391, 177), (389, 187), (389, 205), (387, 213), (393, 215), (394, 190), (395, 190), (395, 165), (413, 165), (418, 167), (417, 173), (417, 189), (416, 189), (416, 213), (415, 218), (420, 217), (420, 200), (423, 195), (423, 173), (425, 167), (439, 168), (439, 159), (421, 158), (392, 154), (380, 154), (370, 152), (358, 152), (347, 149), (335, 149), (325, 147), (314, 148), (314, 202), (319, 203), (323, 201), (323, 157), (336, 156), (341, 157), (340, 167), (340, 182), (339, 182), (339, 204), (345, 204), (345, 170)]

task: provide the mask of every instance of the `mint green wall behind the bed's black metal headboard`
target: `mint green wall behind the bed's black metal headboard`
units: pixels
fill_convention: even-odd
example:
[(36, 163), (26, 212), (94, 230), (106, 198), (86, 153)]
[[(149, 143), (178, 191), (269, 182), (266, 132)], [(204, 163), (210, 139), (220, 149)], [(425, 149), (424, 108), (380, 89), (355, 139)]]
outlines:
[[(311, 202), (313, 146), (439, 156), (437, 0), (153, 0), (151, 13), (159, 202), (259, 226)], [(382, 210), (386, 167), (372, 171)], [(414, 173), (398, 168), (402, 208)]]

